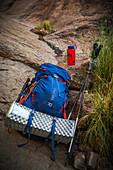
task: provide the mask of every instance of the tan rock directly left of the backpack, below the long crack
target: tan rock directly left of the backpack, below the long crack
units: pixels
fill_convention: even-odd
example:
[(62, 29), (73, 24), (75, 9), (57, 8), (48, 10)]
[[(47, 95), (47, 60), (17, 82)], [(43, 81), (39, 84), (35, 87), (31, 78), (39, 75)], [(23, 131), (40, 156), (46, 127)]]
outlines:
[(3, 57), (0, 57), (0, 63), (0, 113), (6, 114), (27, 78), (33, 78), (35, 70), (24, 63)]

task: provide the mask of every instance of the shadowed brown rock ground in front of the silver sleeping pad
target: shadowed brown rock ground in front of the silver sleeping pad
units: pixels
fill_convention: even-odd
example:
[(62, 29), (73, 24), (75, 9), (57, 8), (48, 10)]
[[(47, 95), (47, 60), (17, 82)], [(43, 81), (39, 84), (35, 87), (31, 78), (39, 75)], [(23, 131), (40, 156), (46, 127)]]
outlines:
[(28, 145), (18, 148), (27, 139), (17, 131), (4, 127), (4, 121), (0, 120), (0, 169), (1, 170), (72, 170), (72, 166), (65, 165), (65, 145), (58, 144), (55, 147), (56, 162), (51, 159), (51, 142), (44, 142), (40, 138), (32, 137)]

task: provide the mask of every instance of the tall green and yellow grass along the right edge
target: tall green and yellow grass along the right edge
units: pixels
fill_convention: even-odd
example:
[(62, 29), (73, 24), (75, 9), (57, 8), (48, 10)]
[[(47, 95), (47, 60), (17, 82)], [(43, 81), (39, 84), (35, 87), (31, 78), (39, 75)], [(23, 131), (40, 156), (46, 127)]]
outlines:
[[(94, 111), (87, 119), (85, 139), (102, 156), (111, 157), (113, 147), (113, 32), (101, 39), (103, 48), (95, 63), (92, 104)], [(111, 135), (112, 134), (112, 135)]]

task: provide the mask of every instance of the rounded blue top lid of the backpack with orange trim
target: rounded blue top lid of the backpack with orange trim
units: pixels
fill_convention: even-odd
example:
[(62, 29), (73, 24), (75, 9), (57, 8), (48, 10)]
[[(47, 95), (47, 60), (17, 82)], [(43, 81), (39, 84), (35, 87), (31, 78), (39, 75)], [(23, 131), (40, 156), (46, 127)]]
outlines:
[(35, 73), (35, 80), (37, 81), (45, 75), (52, 77), (57, 76), (58, 79), (61, 79), (64, 82), (71, 82), (71, 76), (67, 70), (51, 63), (44, 63), (39, 67), (38, 71)]

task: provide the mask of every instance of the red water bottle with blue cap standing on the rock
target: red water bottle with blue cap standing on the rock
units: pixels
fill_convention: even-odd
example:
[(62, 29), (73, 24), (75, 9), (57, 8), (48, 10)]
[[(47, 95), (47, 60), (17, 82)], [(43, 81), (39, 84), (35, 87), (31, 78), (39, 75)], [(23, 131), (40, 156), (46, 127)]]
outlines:
[[(76, 46), (77, 48), (77, 46)], [(67, 64), (68, 65), (75, 65), (75, 48), (74, 46), (68, 46), (67, 50)]]

